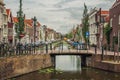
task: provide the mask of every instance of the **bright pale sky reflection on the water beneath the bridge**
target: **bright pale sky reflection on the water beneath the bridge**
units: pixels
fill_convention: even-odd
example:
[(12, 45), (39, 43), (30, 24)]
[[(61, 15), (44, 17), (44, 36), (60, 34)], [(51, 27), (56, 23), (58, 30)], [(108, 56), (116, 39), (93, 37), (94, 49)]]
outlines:
[(81, 71), (80, 56), (56, 56), (56, 69), (63, 71)]

